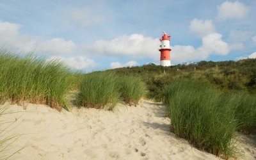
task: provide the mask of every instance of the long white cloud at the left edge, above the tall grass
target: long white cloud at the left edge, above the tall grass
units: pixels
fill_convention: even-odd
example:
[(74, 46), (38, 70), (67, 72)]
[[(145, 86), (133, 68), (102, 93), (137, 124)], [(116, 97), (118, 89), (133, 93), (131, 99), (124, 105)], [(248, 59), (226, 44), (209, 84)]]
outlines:
[(0, 21), (0, 47), (4, 46), (17, 52), (44, 52), (49, 54), (70, 54), (76, 49), (76, 44), (63, 38), (38, 40), (29, 35), (22, 35), (20, 24)]

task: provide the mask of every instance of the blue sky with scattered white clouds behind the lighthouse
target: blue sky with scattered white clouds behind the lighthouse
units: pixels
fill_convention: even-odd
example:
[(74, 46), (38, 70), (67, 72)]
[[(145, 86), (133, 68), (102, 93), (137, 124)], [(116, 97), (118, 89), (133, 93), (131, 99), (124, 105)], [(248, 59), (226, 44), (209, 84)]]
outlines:
[(77, 70), (256, 58), (256, 1), (0, 0), (0, 47)]

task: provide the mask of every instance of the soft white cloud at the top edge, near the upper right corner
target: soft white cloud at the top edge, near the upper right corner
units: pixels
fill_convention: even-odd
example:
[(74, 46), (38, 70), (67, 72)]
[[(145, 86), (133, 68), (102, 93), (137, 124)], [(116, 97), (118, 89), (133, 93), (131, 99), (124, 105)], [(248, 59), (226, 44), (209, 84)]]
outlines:
[(220, 6), (217, 6), (217, 9), (217, 19), (220, 21), (226, 19), (242, 19), (249, 12), (248, 6), (239, 1), (235, 1), (234, 3), (225, 1)]

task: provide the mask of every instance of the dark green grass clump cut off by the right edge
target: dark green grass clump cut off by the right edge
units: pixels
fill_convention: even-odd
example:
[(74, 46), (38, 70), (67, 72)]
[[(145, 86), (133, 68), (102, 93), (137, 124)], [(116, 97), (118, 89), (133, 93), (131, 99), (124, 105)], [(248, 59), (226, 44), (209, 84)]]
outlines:
[(256, 129), (256, 95), (237, 93), (236, 97), (236, 120), (238, 131), (250, 134)]

